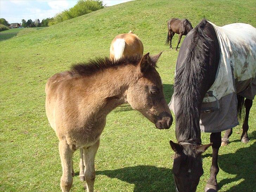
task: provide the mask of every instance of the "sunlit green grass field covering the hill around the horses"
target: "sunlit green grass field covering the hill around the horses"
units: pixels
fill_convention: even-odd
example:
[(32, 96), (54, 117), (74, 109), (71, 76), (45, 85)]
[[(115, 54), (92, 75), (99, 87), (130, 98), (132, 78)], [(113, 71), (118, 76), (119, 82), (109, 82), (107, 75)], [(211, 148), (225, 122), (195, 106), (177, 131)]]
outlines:
[[(142, 40), (145, 53), (164, 51), (157, 70), (169, 102), (178, 52), (164, 45), (167, 21), (188, 18), (194, 27), (206, 17), (219, 26), (249, 23), (255, 27), (255, 13), (256, 1), (131, 1), (2, 40), (0, 191), (60, 191), (58, 139), (45, 114), (47, 78), (77, 62), (108, 56), (113, 38), (132, 30)], [(176, 34), (173, 46), (177, 41)], [(256, 191), (255, 117), (256, 102), (250, 112), (248, 144), (239, 141), (241, 127), (236, 127), (230, 145), (220, 148), (217, 180), (221, 192)], [(176, 141), (174, 130), (175, 123), (168, 130), (156, 129), (129, 105), (112, 111), (96, 154), (95, 191), (174, 191), (169, 146), (169, 140)], [(201, 135), (204, 144), (210, 142), (209, 136)], [(211, 153), (209, 148), (203, 155), (204, 175), (198, 192), (209, 178)], [(84, 191), (84, 183), (79, 181), (78, 151), (73, 160), (76, 175), (71, 191)]]

